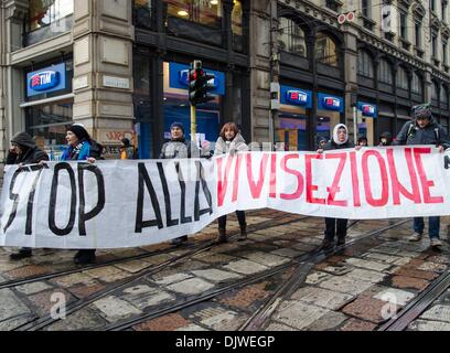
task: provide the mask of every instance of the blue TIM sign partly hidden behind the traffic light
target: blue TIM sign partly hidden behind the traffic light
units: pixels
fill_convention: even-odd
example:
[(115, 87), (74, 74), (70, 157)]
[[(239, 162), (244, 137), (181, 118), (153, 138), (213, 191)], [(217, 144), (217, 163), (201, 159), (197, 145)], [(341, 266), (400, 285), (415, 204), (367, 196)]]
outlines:
[[(189, 88), (189, 65), (169, 63), (169, 83), (171, 88), (188, 89)], [(208, 82), (212, 87), (211, 94), (225, 95), (225, 74), (217, 71), (203, 68), (207, 74), (214, 75), (214, 78)]]

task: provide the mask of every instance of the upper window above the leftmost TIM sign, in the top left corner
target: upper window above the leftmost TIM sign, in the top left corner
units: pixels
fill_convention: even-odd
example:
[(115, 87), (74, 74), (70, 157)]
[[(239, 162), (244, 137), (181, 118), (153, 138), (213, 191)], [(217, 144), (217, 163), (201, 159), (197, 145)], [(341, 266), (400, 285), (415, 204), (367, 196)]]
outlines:
[(71, 31), (74, 0), (30, 0), (24, 46)]

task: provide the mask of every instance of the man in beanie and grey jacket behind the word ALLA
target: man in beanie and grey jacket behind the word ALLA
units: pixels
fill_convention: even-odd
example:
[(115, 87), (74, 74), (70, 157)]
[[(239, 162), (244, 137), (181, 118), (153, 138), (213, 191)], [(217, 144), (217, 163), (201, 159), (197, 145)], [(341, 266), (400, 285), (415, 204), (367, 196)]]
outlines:
[[(211, 158), (210, 142), (203, 141), (201, 150), (195, 142), (185, 138), (183, 124), (173, 122), (170, 133), (171, 140), (162, 146), (160, 159)], [(183, 242), (188, 242), (188, 235), (172, 239), (173, 245), (180, 245)]]

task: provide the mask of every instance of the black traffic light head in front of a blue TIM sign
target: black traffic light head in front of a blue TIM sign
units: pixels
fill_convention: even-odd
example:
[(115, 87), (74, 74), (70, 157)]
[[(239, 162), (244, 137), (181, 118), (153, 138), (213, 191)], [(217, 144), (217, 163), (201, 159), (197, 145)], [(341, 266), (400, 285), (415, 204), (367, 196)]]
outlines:
[(202, 68), (201, 61), (194, 61), (189, 71), (189, 100), (191, 105), (196, 106), (214, 99), (214, 96), (207, 94), (214, 87), (214, 75), (207, 74)]

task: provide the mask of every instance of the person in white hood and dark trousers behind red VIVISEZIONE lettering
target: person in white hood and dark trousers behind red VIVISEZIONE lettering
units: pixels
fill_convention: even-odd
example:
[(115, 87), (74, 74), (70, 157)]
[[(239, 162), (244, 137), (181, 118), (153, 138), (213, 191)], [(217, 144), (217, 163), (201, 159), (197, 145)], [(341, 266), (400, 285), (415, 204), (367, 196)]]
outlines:
[[(349, 141), (349, 129), (343, 124), (338, 124), (333, 130), (333, 138), (318, 153), (329, 150), (352, 148), (354, 145)], [(349, 220), (344, 218), (325, 218), (325, 237), (322, 242), (321, 249), (329, 249), (334, 245), (334, 237), (338, 237), (336, 245), (344, 245), (346, 237)]]

